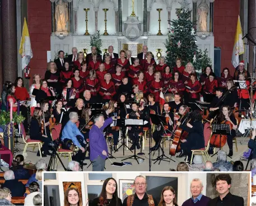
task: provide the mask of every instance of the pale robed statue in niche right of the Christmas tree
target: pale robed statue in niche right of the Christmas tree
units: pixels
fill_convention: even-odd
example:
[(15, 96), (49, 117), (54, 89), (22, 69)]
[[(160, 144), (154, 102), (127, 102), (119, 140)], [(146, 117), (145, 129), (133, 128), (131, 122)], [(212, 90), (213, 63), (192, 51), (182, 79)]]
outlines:
[(202, 0), (197, 8), (199, 31), (207, 32), (207, 16), (209, 7), (206, 0)]

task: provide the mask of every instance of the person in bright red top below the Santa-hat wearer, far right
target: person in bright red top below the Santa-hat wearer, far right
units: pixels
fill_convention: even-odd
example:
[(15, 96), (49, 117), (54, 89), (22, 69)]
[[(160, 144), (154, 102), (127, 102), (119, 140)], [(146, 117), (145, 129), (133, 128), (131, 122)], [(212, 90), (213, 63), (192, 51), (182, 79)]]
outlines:
[[(244, 74), (239, 74), (239, 80), (244, 81), (245, 76)], [(241, 109), (248, 109), (250, 107), (250, 95), (249, 95), (249, 87), (250, 87), (250, 82), (249, 80), (245, 81), (247, 89), (238, 89), (238, 98), (239, 98), (239, 108)]]

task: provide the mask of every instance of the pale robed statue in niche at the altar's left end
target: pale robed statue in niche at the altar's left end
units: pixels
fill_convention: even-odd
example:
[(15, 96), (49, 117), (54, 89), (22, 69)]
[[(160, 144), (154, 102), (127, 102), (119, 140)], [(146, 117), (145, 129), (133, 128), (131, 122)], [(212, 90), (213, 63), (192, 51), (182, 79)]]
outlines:
[(55, 7), (56, 31), (67, 32), (68, 5), (63, 0), (59, 0)]

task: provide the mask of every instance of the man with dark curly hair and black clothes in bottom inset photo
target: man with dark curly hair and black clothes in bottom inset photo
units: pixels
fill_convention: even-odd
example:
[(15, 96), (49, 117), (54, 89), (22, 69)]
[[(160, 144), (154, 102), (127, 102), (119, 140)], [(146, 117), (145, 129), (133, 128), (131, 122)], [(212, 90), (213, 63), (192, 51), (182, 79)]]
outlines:
[(229, 191), (231, 186), (231, 177), (229, 174), (217, 175), (214, 184), (219, 195), (217, 198), (210, 200), (208, 206), (244, 206), (244, 199), (232, 195)]

